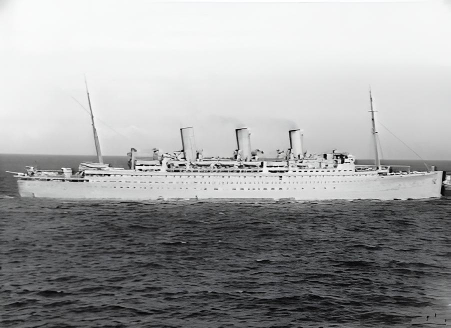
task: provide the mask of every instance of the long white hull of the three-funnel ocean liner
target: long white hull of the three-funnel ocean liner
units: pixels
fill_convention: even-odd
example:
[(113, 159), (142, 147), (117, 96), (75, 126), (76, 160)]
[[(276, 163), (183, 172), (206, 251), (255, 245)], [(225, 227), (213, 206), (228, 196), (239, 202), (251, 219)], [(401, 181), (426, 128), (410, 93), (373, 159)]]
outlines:
[[(93, 171), (90, 171), (91, 173)], [(117, 171), (85, 181), (19, 179), (21, 196), (66, 199), (293, 198), (418, 199), (439, 197), (441, 171), (405, 175), (375, 172), (329, 173), (176, 173)]]

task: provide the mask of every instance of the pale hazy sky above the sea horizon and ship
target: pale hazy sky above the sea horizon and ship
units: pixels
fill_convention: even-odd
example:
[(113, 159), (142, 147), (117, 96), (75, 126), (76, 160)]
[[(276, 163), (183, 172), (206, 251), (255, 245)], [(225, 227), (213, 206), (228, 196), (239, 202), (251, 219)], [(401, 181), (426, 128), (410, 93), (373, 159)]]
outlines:
[[(252, 148), (451, 159), (451, 2), (0, 0), (0, 153)], [(83, 108), (83, 107), (84, 108)], [(388, 130), (387, 130), (387, 129)], [(396, 136), (394, 137), (393, 134)]]

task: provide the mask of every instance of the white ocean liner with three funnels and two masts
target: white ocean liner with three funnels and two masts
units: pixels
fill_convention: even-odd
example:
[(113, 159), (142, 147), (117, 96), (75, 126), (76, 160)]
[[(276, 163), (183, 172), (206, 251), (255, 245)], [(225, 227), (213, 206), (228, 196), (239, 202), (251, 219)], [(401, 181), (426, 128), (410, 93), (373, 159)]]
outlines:
[[(87, 87), (86, 87), (87, 91)], [(195, 146), (193, 127), (180, 129), (182, 150), (172, 153), (131, 148), (128, 168), (103, 163), (92, 108), (87, 92), (97, 163), (80, 163), (76, 172), (39, 170), (26, 166), (17, 177), (22, 197), (67, 199), (208, 199), (289, 198), (320, 199), (417, 199), (439, 197), (443, 172), (411, 171), (409, 166), (381, 165), (370, 92), (370, 113), (375, 159), (373, 165), (357, 165), (346, 152), (308, 155), (299, 129), (288, 131), (290, 148), (278, 151), (274, 160), (260, 158), (252, 150), (247, 128), (235, 130), (233, 157), (204, 157)]]

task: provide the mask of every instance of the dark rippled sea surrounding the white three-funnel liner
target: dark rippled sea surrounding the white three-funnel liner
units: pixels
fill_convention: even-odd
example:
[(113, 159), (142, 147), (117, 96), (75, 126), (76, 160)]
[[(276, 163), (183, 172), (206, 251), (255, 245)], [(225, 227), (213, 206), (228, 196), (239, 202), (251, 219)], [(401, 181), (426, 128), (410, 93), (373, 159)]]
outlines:
[(5, 172), (85, 160), (0, 155), (0, 327), (451, 325), (449, 196), (68, 201)]

